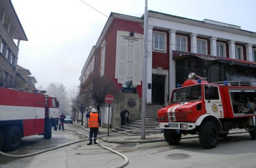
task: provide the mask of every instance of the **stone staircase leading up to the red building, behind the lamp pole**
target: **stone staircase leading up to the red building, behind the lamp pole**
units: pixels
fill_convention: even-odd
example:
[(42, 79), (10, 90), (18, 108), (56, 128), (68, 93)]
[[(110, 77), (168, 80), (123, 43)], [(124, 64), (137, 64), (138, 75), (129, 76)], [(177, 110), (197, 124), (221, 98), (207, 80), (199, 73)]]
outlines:
[[(161, 133), (160, 129), (155, 128), (155, 122), (157, 122), (157, 111), (162, 108), (158, 105), (146, 105), (146, 126), (145, 133)], [(113, 129), (113, 131), (121, 132), (127, 131), (128, 134), (140, 134), (141, 132), (141, 116), (134, 119), (130, 119), (129, 124), (126, 126), (120, 126)], [(130, 130), (130, 131), (129, 131)], [(138, 131), (137, 131), (138, 130)]]

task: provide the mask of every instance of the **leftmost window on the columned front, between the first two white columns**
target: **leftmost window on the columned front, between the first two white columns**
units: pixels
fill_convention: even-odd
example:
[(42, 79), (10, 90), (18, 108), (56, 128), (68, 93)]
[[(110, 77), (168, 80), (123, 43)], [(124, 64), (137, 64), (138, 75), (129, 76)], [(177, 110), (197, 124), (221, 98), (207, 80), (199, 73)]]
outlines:
[(153, 41), (155, 51), (166, 51), (166, 33), (154, 31)]

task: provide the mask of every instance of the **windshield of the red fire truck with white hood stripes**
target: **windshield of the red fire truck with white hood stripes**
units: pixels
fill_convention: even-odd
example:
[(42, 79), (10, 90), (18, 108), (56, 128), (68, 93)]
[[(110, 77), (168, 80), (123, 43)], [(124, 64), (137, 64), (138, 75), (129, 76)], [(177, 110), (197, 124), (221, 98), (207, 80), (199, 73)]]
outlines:
[(201, 100), (202, 98), (202, 89), (201, 85), (194, 85), (188, 87), (181, 87), (175, 89), (172, 92), (171, 103), (174, 102), (187, 102), (187, 101), (194, 101), (194, 100)]

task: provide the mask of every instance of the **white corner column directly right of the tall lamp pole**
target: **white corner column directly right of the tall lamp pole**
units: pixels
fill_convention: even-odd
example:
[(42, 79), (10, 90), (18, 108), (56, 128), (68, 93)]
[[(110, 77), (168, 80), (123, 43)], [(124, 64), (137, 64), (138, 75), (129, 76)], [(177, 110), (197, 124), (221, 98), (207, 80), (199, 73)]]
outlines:
[[(153, 26), (148, 26), (148, 42), (153, 42)], [(146, 103), (152, 102), (152, 46), (148, 45), (147, 51), (147, 95), (146, 95)], [(151, 86), (151, 88), (149, 88)]]

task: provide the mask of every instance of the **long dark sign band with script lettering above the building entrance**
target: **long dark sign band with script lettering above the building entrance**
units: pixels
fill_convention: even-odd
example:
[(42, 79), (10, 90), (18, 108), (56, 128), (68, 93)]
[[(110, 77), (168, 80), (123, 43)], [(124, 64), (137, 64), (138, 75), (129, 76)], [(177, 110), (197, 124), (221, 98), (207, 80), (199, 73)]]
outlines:
[(224, 58), (218, 56), (204, 55), (204, 54), (196, 54), (191, 52), (181, 52), (181, 51), (172, 51), (172, 59), (174, 60), (184, 60), (185, 58), (189, 58), (191, 56), (196, 56), (206, 61), (210, 62), (220, 62), (223, 64), (230, 65), (238, 65), (238, 66), (246, 66), (251, 68), (256, 68), (256, 62), (246, 61), (246, 60), (235, 60), (232, 58)]

